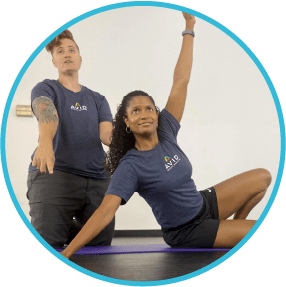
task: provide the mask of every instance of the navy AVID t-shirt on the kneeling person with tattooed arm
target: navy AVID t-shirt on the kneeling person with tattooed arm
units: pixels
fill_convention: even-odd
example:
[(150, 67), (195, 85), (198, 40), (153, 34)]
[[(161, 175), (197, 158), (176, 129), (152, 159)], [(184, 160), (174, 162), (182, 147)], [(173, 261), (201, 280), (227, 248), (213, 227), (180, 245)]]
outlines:
[[(31, 100), (41, 96), (53, 101), (59, 115), (53, 139), (54, 169), (97, 179), (109, 178), (103, 169), (105, 152), (99, 138), (99, 124), (112, 122), (105, 97), (85, 86), (75, 93), (55, 80), (44, 80), (33, 88)], [(36, 169), (30, 164), (29, 171)]]

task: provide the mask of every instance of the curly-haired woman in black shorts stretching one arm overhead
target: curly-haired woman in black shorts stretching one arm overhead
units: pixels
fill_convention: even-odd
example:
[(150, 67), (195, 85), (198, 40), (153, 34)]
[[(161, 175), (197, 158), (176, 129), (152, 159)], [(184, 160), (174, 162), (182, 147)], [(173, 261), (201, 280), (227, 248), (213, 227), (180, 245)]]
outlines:
[[(177, 143), (193, 57), (195, 17), (183, 13), (186, 31), (165, 109), (143, 91), (126, 95), (113, 122), (105, 166), (113, 174), (100, 207), (61, 252), (70, 258), (138, 192), (151, 206), (171, 247), (233, 247), (253, 227), (247, 215), (263, 198), (271, 175), (255, 169), (197, 191), (192, 165)], [(233, 220), (227, 220), (234, 214)]]

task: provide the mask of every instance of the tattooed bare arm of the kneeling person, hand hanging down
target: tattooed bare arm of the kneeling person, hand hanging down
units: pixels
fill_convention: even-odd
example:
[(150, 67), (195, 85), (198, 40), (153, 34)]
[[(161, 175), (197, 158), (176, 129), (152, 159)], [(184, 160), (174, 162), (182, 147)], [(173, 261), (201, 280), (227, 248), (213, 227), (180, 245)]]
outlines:
[(39, 145), (32, 165), (42, 173), (46, 173), (48, 168), (49, 173), (52, 174), (55, 163), (53, 138), (58, 128), (58, 113), (53, 101), (47, 97), (35, 98), (32, 108), (39, 122)]

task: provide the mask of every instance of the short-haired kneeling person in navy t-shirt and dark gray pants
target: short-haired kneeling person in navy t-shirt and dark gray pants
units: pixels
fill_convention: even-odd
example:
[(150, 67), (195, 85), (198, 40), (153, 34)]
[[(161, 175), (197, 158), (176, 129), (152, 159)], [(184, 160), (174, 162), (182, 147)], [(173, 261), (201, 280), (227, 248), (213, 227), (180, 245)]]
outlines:
[[(106, 98), (79, 84), (82, 57), (69, 30), (46, 49), (58, 80), (32, 90), (39, 144), (29, 166), (31, 223), (47, 243), (62, 248), (101, 204), (110, 182), (102, 143), (110, 144), (112, 114)], [(110, 245), (114, 219), (89, 245)]]

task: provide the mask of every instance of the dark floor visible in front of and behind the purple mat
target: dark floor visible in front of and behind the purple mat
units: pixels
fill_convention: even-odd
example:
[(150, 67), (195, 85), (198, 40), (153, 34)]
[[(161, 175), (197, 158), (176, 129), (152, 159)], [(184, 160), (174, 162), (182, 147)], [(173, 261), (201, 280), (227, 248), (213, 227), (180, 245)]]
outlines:
[[(162, 238), (114, 238), (112, 245), (163, 244)], [(130, 281), (171, 279), (201, 269), (226, 252), (74, 255), (71, 261), (107, 277)]]

